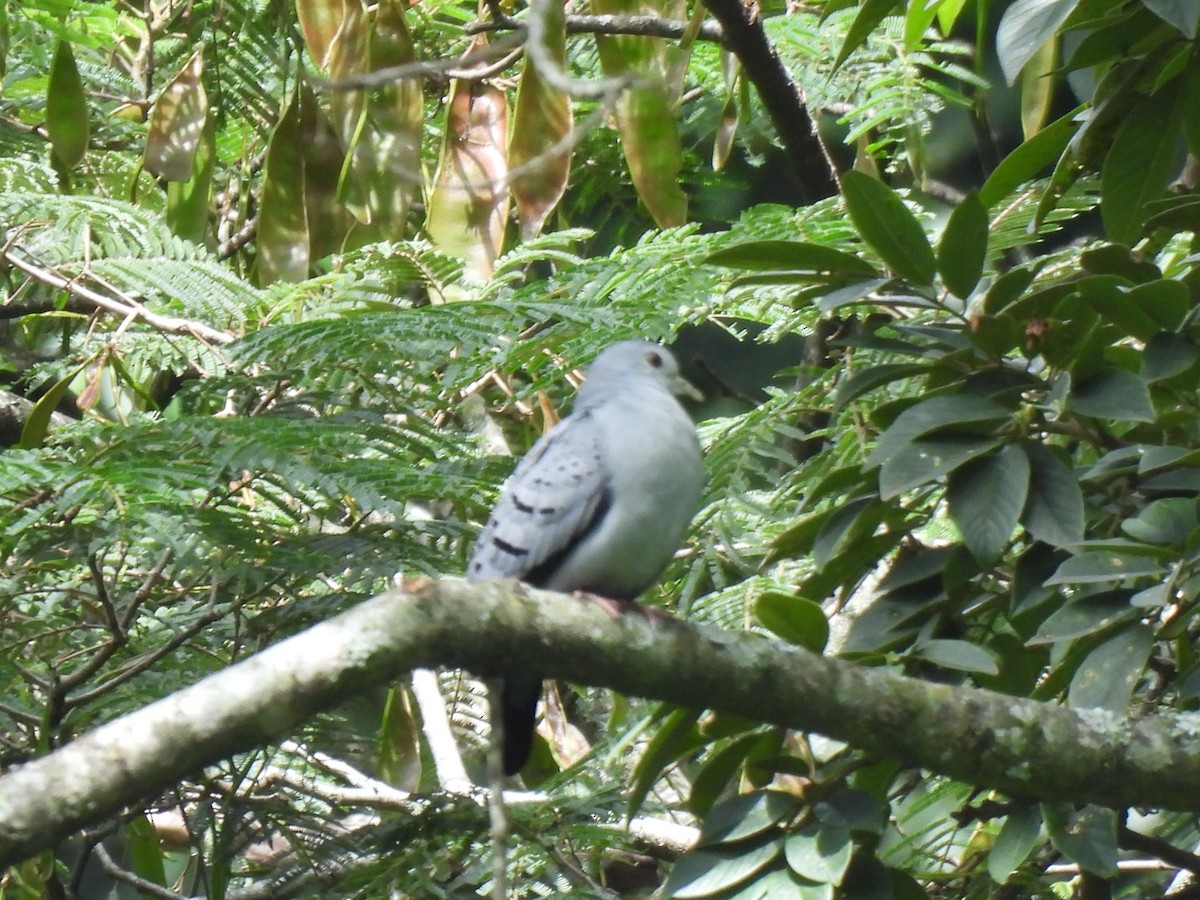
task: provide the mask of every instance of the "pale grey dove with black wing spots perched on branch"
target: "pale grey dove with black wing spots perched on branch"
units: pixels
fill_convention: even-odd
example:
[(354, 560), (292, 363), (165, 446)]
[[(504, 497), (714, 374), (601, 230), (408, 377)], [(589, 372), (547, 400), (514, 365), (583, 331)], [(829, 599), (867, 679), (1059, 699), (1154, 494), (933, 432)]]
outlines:
[[(696, 514), (704, 473), (696, 428), (676, 398), (700, 396), (668, 350), (623, 341), (596, 356), (570, 415), (529, 450), (467, 565), (470, 581), (618, 601), (649, 588)], [(541, 682), (505, 678), (504, 770), (529, 758)]]

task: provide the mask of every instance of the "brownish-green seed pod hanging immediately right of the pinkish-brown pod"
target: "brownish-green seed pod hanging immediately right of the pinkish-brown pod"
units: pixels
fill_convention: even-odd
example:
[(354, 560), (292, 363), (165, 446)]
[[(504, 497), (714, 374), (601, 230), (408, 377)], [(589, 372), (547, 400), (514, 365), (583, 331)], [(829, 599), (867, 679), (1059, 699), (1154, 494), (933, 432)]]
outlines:
[[(530, 10), (541, 16), (546, 35), (544, 52), (560, 68), (566, 68), (566, 13), (562, 4), (539, 4)], [(571, 172), (571, 97), (547, 82), (533, 56), (526, 54), (517, 85), (509, 138), (509, 166), (516, 172), (510, 182), (517, 205), (521, 238), (532, 240), (541, 233), (566, 190)]]

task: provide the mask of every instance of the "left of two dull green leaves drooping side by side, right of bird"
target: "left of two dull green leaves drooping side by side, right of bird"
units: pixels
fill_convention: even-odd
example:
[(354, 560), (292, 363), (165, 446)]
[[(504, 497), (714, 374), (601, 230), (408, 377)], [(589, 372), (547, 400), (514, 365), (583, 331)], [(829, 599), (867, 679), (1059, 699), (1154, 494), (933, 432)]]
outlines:
[(946, 490), (950, 518), (982, 565), (1000, 558), (1020, 522), (1028, 492), (1030, 460), (1013, 444), (950, 473)]

